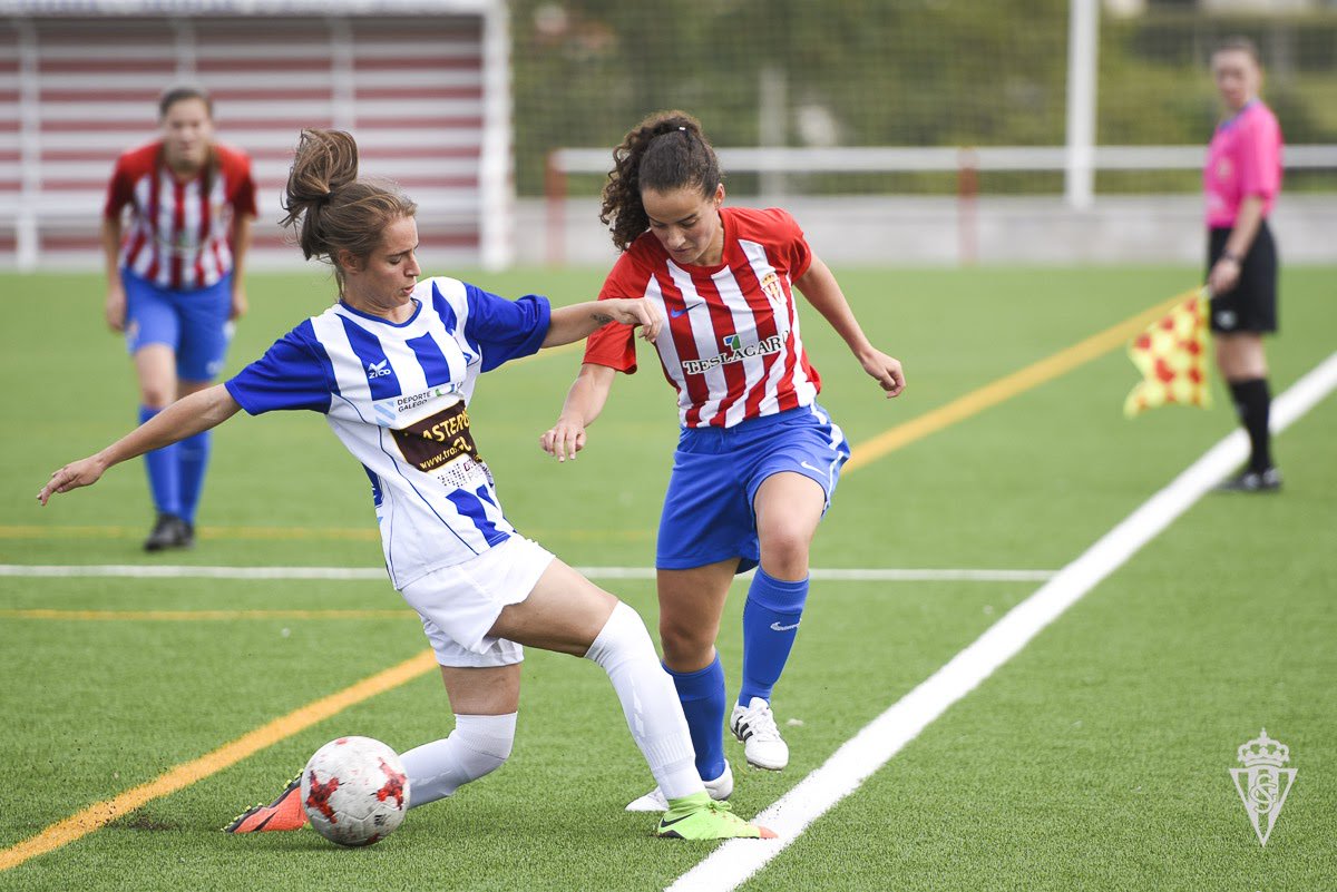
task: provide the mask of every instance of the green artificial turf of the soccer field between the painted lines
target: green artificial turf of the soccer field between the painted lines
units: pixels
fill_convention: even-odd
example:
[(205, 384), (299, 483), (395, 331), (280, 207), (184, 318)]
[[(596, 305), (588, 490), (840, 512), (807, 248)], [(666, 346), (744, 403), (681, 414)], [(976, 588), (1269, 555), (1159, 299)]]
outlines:
[[(885, 401), (806, 308), (822, 403), (856, 449), (1193, 284), (1175, 267), (837, 270), (874, 343), (905, 362)], [(1330, 267), (1288, 267), (1281, 393), (1334, 349)], [(598, 270), (477, 274), (516, 296), (592, 296)], [(0, 276), (0, 564), (380, 564), (366, 479), (313, 413), (238, 417), (217, 433), (189, 553), (146, 555), (143, 471), (33, 495), (60, 463), (134, 423), (135, 387), (100, 322), (98, 276)], [(326, 278), (254, 275), (235, 371), (329, 299)], [(652, 564), (677, 435), (648, 351), (618, 381), (590, 446), (537, 449), (579, 365), (567, 351), (503, 367), (471, 415), (508, 517), (572, 565)], [(1233, 430), (1217, 409), (1120, 414), (1118, 351), (844, 477), (817, 568), (1062, 568)], [(1316, 889), (1337, 835), (1337, 401), (1277, 442), (1286, 487), (1213, 494), (952, 706), (754, 876), (749, 889)], [(648, 581), (602, 581), (655, 628)], [(1039, 584), (814, 582), (777, 689), (793, 761), (738, 774), (735, 808), (775, 801)], [(737, 685), (734, 586), (719, 649)], [(0, 851), (425, 648), (410, 613), (299, 618), (266, 610), (397, 610), (378, 581), (0, 577)], [(17, 610), (257, 612), (243, 618), (27, 618)], [(511, 762), (414, 811), (389, 840), (341, 851), (310, 831), (230, 837), (345, 733), (396, 749), (451, 729), (435, 673), (366, 700), (70, 845), (0, 872), (0, 889), (648, 889), (709, 845), (650, 837), (622, 811), (652, 781), (595, 666), (531, 652)], [(731, 685), (731, 689), (734, 689)], [(1298, 769), (1266, 848), (1227, 769), (1262, 726)]]

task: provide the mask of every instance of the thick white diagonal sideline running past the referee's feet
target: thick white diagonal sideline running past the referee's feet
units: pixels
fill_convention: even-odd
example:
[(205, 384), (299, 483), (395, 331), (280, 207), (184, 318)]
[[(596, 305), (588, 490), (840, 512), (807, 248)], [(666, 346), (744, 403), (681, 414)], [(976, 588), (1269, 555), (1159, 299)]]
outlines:
[[(1294, 383), (1273, 403), (1271, 429), (1285, 430), (1337, 387), (1337, 354)], [(1241, 430), (1222, 439), (1106, 533), (1029, 598), (1016, 605), (947, 665), (837, 749), (830, 758), (774, 805), (757, 816), (774, 840), (733, 840), (715, 849), (668, 887), (670, 892), (727, 892), (779, 855), (804, 829), (873, 772), (885, 765), (929, 722), (1012, 658), (1031, 638), (1094, 589), (1202, 498), (1247, 454)], [(1250, 498), (1239, 495), (1234, 498)], [(1257, 497), (1267, 498), (1267, 497)]]

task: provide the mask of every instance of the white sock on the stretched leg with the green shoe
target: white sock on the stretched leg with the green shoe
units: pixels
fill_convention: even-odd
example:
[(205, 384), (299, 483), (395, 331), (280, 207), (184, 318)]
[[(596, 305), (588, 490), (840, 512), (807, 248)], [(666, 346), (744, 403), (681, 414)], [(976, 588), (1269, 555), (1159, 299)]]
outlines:
[(608, 673), (622, 701), (627, 728), (650, 762), (650, 773), (664, 797), (705, 792), (697, 774), (697, 756), (691, 749), (678, 690), (659, 665), (640, 614), (619, 601), (599, 637), (590, 645), (586, 660), (592, 660)]

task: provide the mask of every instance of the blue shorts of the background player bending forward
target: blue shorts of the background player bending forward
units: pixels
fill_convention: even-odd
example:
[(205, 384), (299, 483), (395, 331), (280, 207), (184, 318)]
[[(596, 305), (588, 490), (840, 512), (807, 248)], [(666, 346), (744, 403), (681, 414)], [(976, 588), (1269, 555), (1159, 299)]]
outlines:
[(182, 381), (213, 381), (222, 373), (233, 339), (233, 276), (194, 291), (174, 291), (120, 271), (126, 286), (126, 349), (130, 355), (151, 343), (176, 354)]

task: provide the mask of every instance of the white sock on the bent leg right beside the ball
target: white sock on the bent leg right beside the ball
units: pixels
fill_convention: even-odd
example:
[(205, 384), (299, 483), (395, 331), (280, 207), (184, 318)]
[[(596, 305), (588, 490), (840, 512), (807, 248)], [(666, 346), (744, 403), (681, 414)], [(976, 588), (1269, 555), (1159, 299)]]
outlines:
[(409, 808), (445, 799), (501, 768), (515, 741), (515, 716), (456, 716), (449, 737), (401, 754), (409, 776)]

